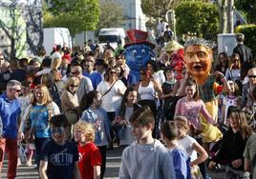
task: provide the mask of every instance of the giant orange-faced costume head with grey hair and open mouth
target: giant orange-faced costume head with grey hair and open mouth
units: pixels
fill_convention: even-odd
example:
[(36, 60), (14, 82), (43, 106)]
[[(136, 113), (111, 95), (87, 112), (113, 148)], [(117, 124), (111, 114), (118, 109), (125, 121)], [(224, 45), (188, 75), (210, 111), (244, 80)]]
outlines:
[(191, 39), (184, 46), (184, 61), (193, 77), (206, 77), (212, 67), (212, 44), (204, 39)]

